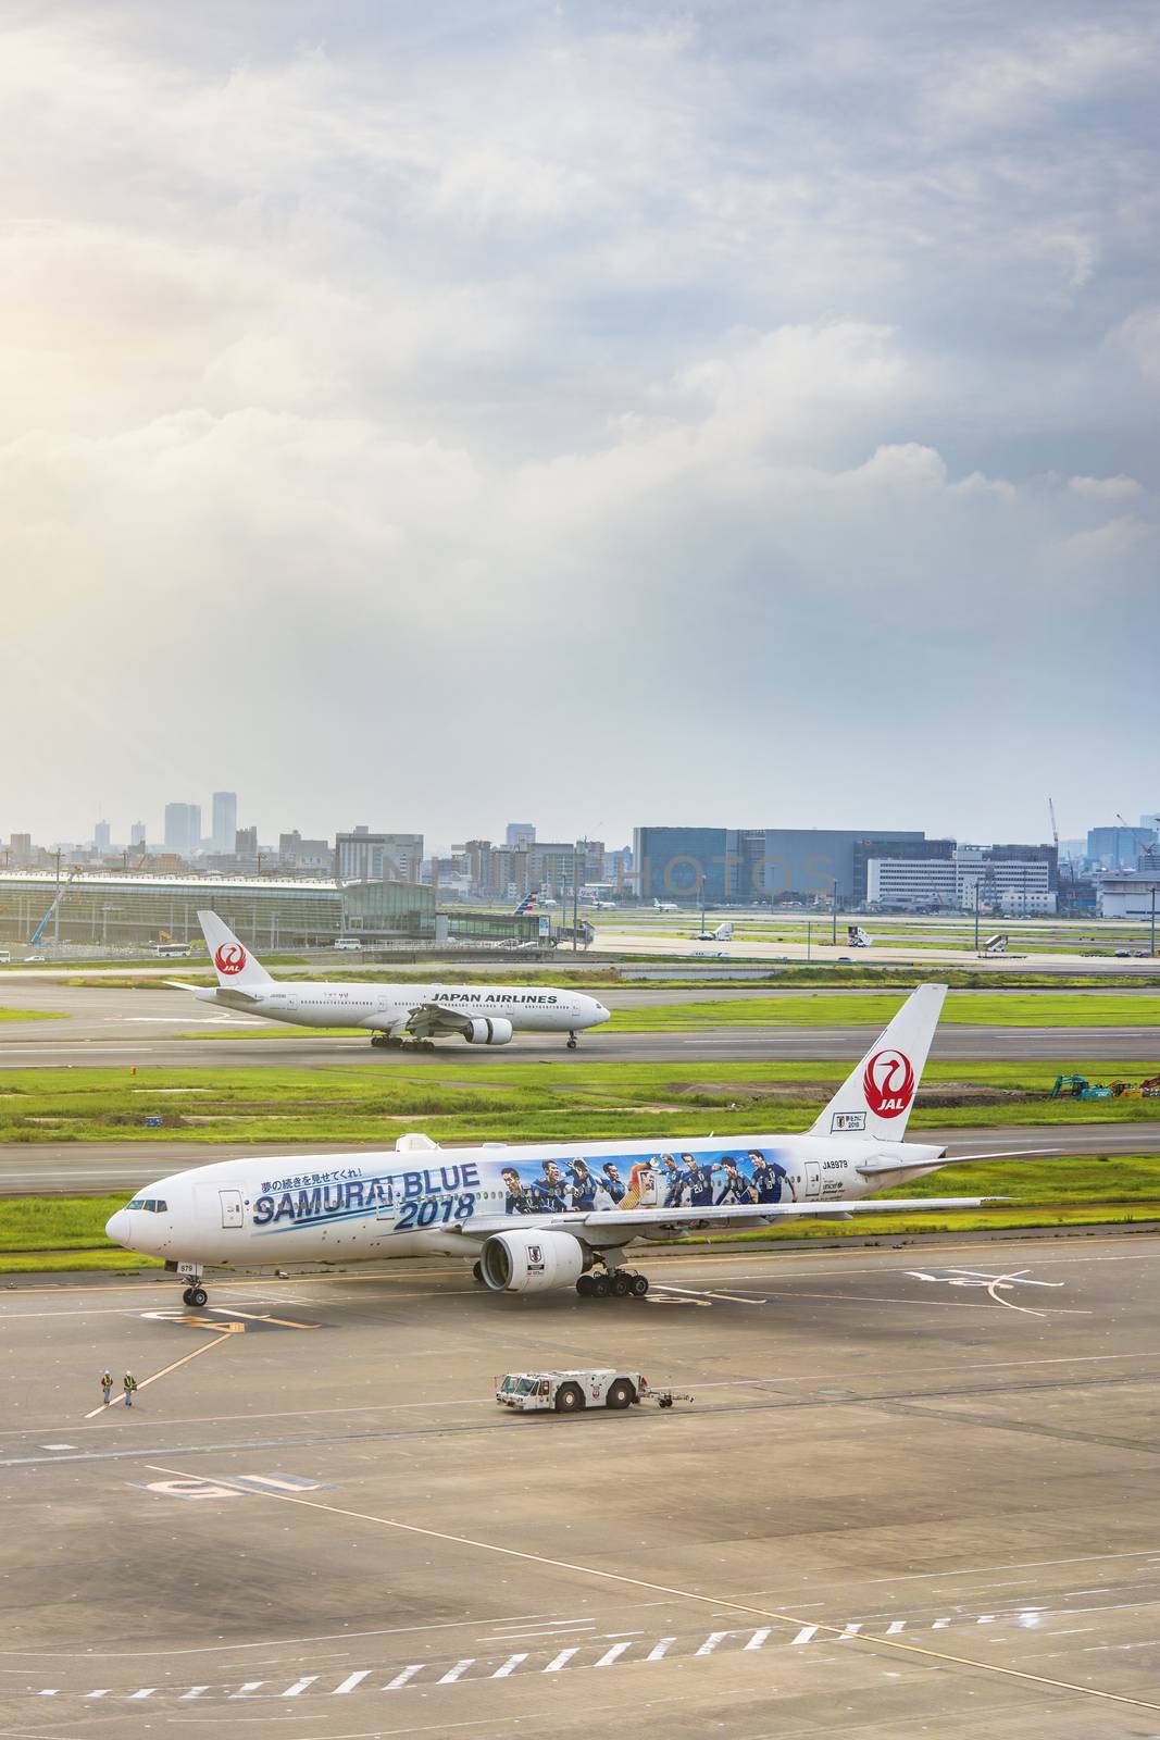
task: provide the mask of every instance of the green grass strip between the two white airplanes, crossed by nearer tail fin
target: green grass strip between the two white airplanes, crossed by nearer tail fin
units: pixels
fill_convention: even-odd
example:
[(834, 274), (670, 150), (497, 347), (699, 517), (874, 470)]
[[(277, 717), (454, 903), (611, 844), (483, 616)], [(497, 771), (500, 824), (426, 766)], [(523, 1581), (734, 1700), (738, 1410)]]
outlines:
[[(1056, 1074), (1141, 1081), (1148, 1065), (1101, 1060), (930, 1063), (911, 1129), (1160, 1119), (1160, 1100), (1050, 1100)], [(437, 1141), (708, 1134), (805, 1129), (842, 1063), (544, 1063), (501, 1060), (487, 1075), (438, 1053), (409, 1067), (12, 1070), (0, 1077), (0, 1141)], [(160, 1117), (160, 1128), (146, 1128)]]

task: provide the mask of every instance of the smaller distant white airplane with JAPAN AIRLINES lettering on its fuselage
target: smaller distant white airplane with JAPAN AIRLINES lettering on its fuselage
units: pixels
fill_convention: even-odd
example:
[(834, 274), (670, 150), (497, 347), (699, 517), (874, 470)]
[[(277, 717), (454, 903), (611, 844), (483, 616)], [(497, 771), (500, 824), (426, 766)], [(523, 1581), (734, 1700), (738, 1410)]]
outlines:
[(609, 1011), (595, 997), (551, 985), (374, 985), (275, 980), (216, 912), (198, 912), (217, 987), (183, 985), (200, 1002), (243, 1009), (268, 1021), (296, 1027), (365, 1027), (372, 1046), (414, 1041), (431, 1049), (437, 1039), (466, 1039), (470, 1046), (506, 1046), (513, 1032), (576, 1034), (600, 1027)]

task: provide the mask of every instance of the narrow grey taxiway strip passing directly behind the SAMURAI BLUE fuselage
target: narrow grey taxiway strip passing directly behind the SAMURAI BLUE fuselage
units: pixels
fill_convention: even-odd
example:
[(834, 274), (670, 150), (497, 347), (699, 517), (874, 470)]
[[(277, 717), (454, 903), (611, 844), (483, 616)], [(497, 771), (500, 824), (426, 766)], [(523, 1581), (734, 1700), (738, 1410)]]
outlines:
[[(755, 1112), (755, 1119), (760, 1114)], [(421, 1124), (423, 1119), (419, 1117)], [(951, 1154), (1002, 1154), (1010, 1148), (1047, 1148), (1052, 1154), (1160, 1154), (1160, 1121), (1139, 1124), (1007, 1124), (976, 1129), (911, 1129), (915, 1141), (944, 1143)], [(452, 1143), (454, 1147), (454, 1143)], [(153, 1178), (190, 1166), (209, 1166), (235, 1155), (383, 1154), (370, 1141), (38, 1141), (0, 1143), (0, 1197), (106, 1195), (136, 1190)]]

